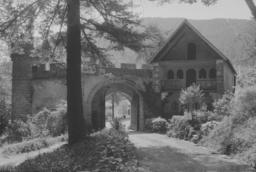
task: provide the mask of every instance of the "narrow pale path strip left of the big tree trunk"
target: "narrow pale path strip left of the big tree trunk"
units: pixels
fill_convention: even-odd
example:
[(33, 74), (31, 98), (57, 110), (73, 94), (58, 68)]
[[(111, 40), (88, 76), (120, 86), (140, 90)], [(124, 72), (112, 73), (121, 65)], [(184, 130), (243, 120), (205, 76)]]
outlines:
[(8, 165), (11, 165), (11, 166), (19, 165), (24, 160), (27, 160), (28, 158), (33, 158), (36, 155), (38, 155), (39, 153), (52, 152), (54, 149), (56, 149), (57, 147), (59, 147), (60, 145), (63, 145), (63, 144), (66, 144), (66, 142), (54, 144), (47, 148), (40, 149), (38, 151), (32, 151), (32, 152), (28, 152), (28, 153), (20, 153), (18, 155), (13, 155), (13, 156), (8, 156), (8, 157), (3, 157), (2, 155), (0, 155), (0, 167), (8, 166)]

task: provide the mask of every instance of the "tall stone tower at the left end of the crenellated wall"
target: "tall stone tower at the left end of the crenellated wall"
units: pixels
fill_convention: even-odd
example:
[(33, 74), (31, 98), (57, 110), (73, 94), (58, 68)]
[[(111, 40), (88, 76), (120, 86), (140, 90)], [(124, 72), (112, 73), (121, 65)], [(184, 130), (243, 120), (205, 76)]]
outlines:
[(22, 48), (24, 54), (11, 54), (12, 120), (26, 121), (32, 108), (32, 64), (38, 62), (38, 58), (29, 56), (30, 50), (34, 49), (33, 44), (25, 43)]

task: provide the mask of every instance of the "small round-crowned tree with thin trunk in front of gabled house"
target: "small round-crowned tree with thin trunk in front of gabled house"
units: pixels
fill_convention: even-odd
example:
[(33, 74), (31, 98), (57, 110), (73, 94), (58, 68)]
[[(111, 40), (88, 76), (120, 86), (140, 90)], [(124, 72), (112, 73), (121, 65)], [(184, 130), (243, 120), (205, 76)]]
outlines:
[(200, 90), (200, 85), (196, 85), (195, 83), (193, 83), (187, 89), (181, 89), (179, 100), (181, 102), (181, 105), (192, 105), (192, 120), (195, 120), (195, 104), (196, 102), (201, 102), (203, 98), (204, 93), (203, 90)]

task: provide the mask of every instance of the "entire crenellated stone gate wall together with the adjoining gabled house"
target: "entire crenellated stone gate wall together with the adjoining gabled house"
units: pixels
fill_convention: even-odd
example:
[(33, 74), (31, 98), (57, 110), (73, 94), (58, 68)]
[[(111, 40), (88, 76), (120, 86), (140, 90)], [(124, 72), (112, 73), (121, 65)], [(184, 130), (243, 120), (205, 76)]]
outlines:
[[(44, 107), (54, 107), (60, 99), (67, 98), (66, 71), (59, 64), (32, 66), (37, 58), (29, 57), (33, 45), (26, 44), (24, 54), (12, 54), (12, 119), (26, 120)], [(151, 65), (121, 64), (121, 68), (106, 68), (113, 77), (82, 74), (84, 119), (96, 129), (105, 126), (105, 100), (122, 93), (131, 102), (131, 128), (142, 129), (144, 114), (148, 113), (140, 94), (145, 91), (143, 82), (153, 83), (154, 90), (168, 95), (164, 111), (177, 114), (189, 105), (181, 105), (180, 90), (196, 83), (204, 90), (203, 103), (212, 110), (214, 99), (225, 91), (234, 92), (236, 70), (228, 58), (212, 45), (187, 20), (149, 60)], [(191, 109), (191, 107), (190, 107)]]

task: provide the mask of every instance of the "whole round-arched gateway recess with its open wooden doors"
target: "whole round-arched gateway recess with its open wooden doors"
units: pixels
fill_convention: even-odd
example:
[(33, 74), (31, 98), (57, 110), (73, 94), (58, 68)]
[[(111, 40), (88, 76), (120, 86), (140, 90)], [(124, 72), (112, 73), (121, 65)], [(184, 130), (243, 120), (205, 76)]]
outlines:
[[(125, 97), (123, 98), (126, 102), (124, 104), (127, 105), (127, 101), (128, 101), (128, 106), (130, 104), (130, 109), (131, 109), (130, 121), (126, 122), (128, 124), (128, 125), (126, 124), (127, 125), (126, 127), (130, 126), (131, 129), (135, 129), (135, 130), (139, 129), (139, 125), (142, 124), (142, 120), (140, 118), (143, 118), (142, 99), (140, 98), (139, 93), (132, 86), (125, 83), (119, 83), (119, 82), (110, 83), (110, 84), (106, 84), (105, 86), (102, 86), (99, 90), (95, 92), (94, 96), (92, 97), (92, 101), (91, 101), (92, 129), (98, 130), (106, 127), (106, 121), (110, 117), (110, 113), (108, 113), (108, 109), (111, 108), (111, 111), (112, 111), (112, 105), (109, 105), (108, 99), (110, 98), (110, 102), (111, 102), (112, 95), (120, 96), (120, 94), (122, 95), (122, 97), (123, 96)], [(117, 111), (115, 111), (115, 109)], [(114, 105), (114, 116), (118, 115), (124, 118), (122, 110), (120, 110), (120, 112), (119, 110), (120, 109), (117, 109)], [(127, 116), (129, 115), (127, 114)], [(111, 117), (112, 117), (112, 112), (111, 112)]]

